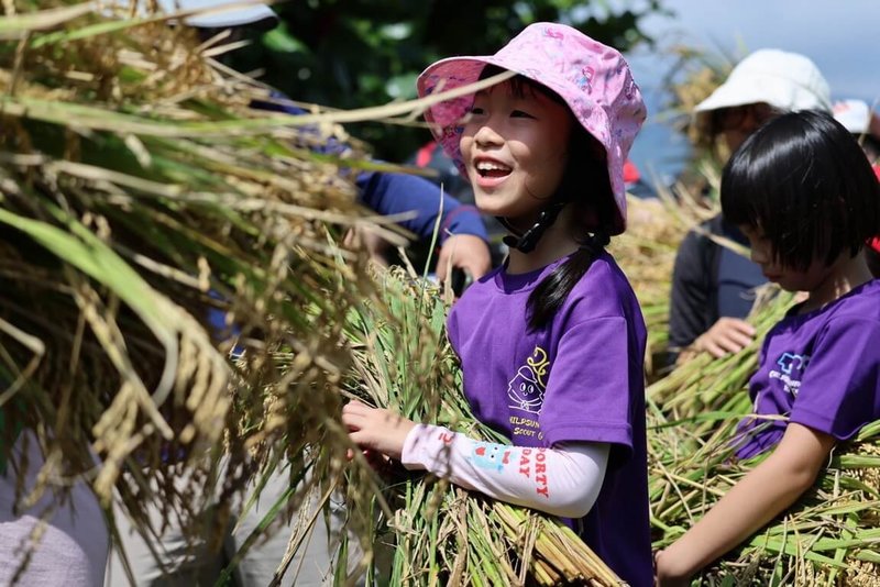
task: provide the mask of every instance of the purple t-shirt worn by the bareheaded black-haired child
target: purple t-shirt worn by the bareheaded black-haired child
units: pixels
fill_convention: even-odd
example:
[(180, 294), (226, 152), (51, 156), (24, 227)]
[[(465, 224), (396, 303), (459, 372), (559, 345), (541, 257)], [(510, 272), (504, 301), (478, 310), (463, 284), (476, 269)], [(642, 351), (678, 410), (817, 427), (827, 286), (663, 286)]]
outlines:
[[(868, 281), (820, 310), (796, 307), (767, 334), (749, 381), (756, 414), (851, 439), (880, 419), (880, 280)], [(739, 424), (737, 456), (774, 446), (787, 421), (749, 417)]]

